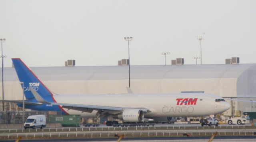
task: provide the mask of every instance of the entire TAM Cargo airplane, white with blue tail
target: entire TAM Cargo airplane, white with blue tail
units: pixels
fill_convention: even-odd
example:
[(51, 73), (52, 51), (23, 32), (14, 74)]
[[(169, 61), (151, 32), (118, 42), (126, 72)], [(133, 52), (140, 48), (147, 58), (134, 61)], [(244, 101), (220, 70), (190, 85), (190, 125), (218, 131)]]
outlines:
[[(209, 116), (230, 108), (222, 97), (206, 93), (56, 95), (19, 58), (12, 59), (24, 83), (25, 108), (61, 111), (92, 118), (106, 116), (124, 122), (141, 122), (175, 116)], [(89, 101), (90, 100), (90, 101)], [(22, 107), (22, 101), (9, 100)]]

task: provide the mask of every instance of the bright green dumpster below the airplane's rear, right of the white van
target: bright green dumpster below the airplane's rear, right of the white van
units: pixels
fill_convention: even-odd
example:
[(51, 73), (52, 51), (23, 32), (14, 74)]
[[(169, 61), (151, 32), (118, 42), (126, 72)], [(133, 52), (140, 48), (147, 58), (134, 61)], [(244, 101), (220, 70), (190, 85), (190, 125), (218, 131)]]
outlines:
[(81, 115), (64, 115), (62, 116), (62, 127), (79, 127)]

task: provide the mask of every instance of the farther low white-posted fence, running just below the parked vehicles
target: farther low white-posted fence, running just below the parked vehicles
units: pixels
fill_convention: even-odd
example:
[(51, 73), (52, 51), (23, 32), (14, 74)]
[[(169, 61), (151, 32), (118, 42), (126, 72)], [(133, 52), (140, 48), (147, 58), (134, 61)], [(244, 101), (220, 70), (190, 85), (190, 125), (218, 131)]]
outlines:
[(203, 134), (204, 132), (225, 132), (226, 130), (232, 130), (235, 132), (245, 132), (245, 131), (255, 131), (254, 126), (218, 126), (218, 127), (53, 127), (53, 128), (43, 128), (43, 129), (24, 129), (24, 128), (12, 128), (12, 129), (2, 129), (0, 134), (11, 134), (11, 133), (65, 133), (65, 132), (199, 132)]

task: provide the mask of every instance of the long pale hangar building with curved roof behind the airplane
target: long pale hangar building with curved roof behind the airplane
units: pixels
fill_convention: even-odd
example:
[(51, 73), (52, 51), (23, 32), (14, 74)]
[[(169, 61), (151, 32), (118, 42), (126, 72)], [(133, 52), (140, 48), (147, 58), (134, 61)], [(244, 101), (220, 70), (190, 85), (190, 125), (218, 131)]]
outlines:
[[(60, 95), (128, 93), (127, 65), (31, 67), (31, 70), (50, 91)], [(255, 103), (228, 100), (256, 101), (256, 64), (131, 65), (130, 88), (133, 93), (204, 91), (231, 103), (232, 108), (224, 115), (236, 115), (237, 110), (256, 112)], [(14, 68), (4, 68), (4, 99), (22, 100), (22, 88)], [(16, 110), (15, 106), (6, 103), (5, 108)]]

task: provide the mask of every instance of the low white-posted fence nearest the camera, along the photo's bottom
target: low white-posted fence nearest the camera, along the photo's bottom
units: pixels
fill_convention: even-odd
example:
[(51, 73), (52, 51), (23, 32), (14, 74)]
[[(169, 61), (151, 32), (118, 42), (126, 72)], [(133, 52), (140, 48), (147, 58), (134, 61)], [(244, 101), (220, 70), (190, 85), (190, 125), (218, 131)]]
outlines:
[[(159, 138), (159, 137), (211, 137), (216, 132), (50, 132), (50, 133), (12, 133), (0, 134), (1, 140), (22, 140), (33, 139), (78, 139), (78, 138), (115, 138), (116, 135), (123, 135), (124, 138)], [(253, 131), (236, 132), (217, 132), (218, 136), (253, 136)]]

